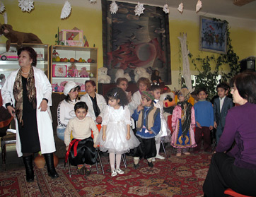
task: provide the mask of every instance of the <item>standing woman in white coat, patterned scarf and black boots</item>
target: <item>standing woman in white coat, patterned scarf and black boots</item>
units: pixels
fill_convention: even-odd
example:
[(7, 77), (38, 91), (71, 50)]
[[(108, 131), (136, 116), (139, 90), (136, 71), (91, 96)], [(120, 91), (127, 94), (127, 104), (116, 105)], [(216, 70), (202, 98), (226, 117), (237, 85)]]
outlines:
[(45, 156), (48, 174), (52, 179), (59, 177), (53, 162), (55, 151), (52, 130), (52, 85), (37, 64), (37, 54), (31, 47), (18, 50), (18, 64), (3, 88), (3, 105), (16, 119), (16, 150), (23, 156), (26, 179), (34, 181), (33, 153), (41, 151)]

